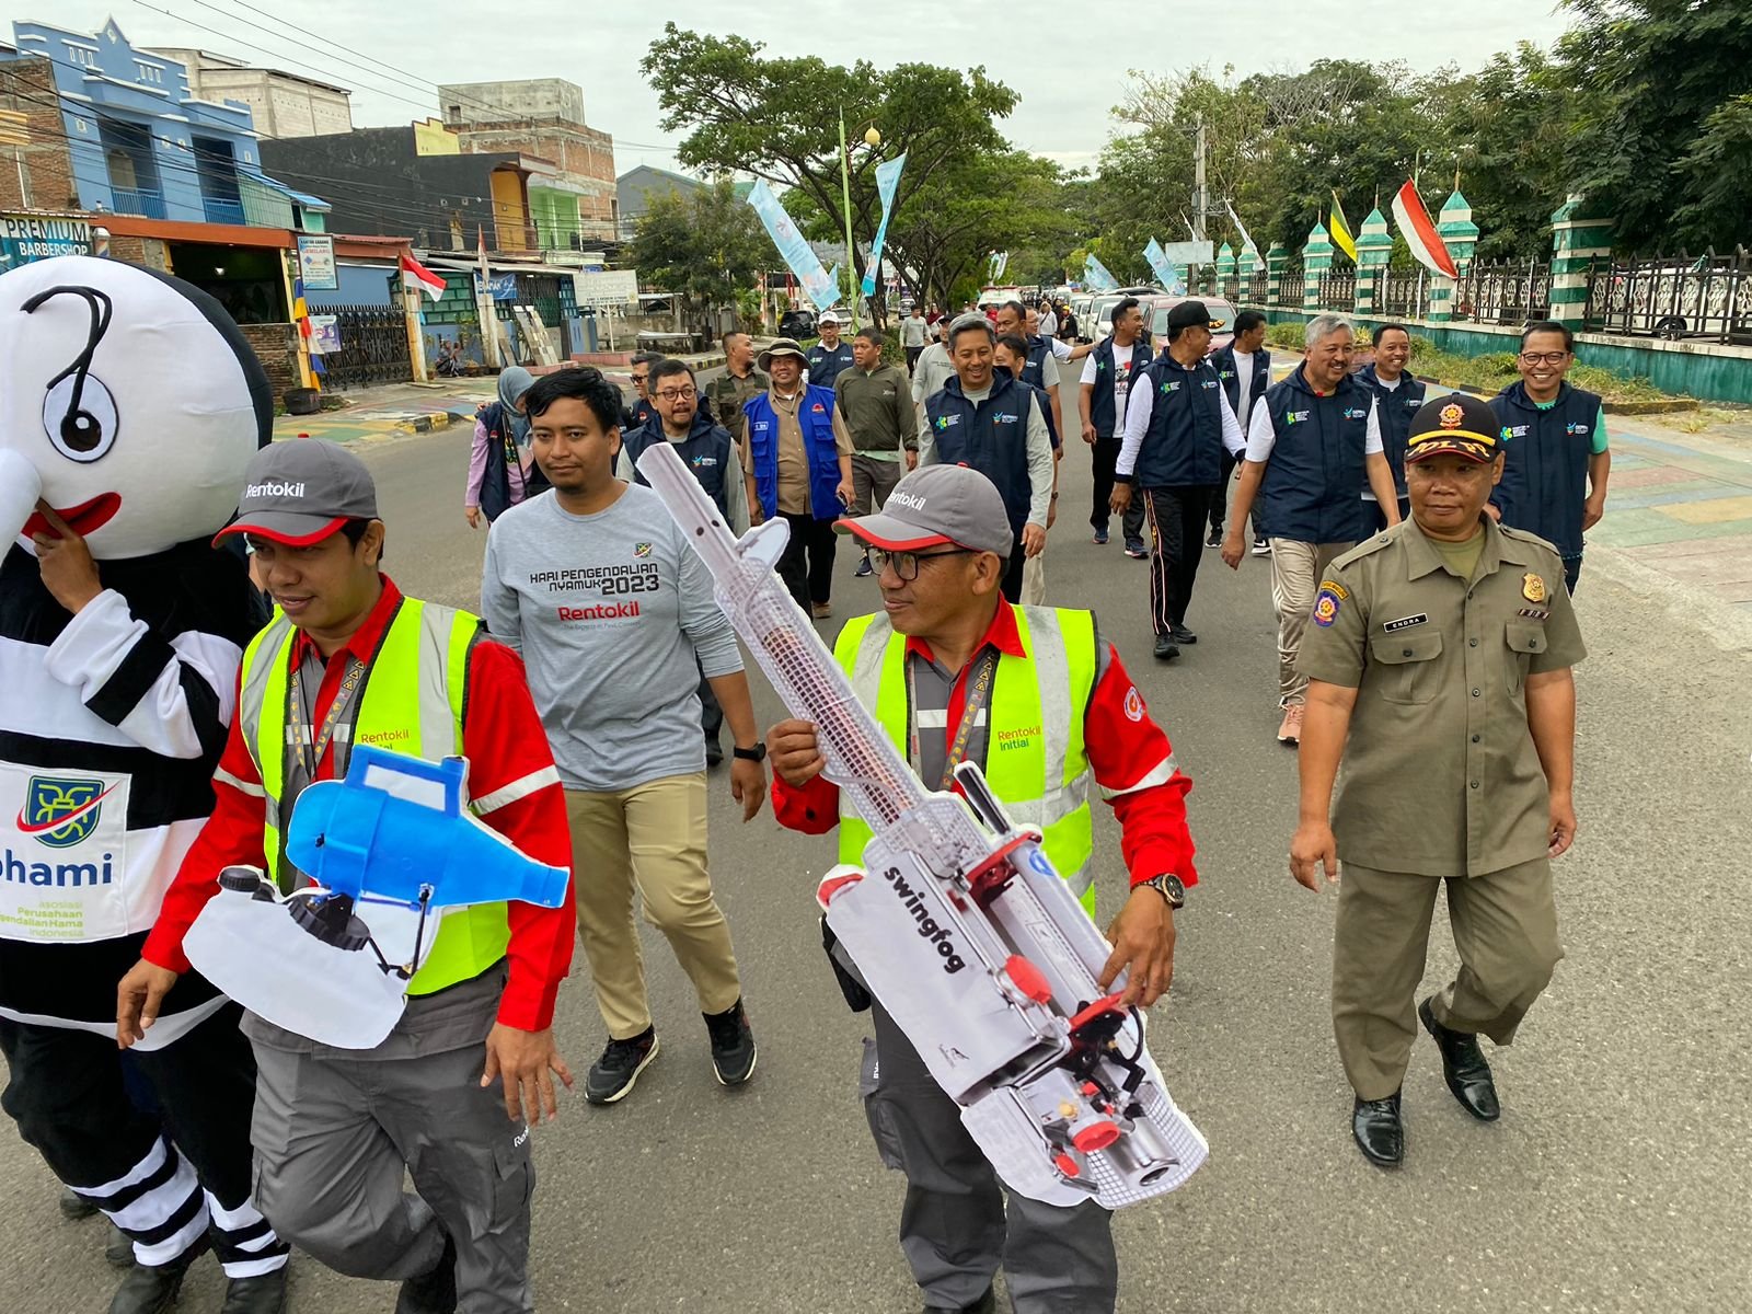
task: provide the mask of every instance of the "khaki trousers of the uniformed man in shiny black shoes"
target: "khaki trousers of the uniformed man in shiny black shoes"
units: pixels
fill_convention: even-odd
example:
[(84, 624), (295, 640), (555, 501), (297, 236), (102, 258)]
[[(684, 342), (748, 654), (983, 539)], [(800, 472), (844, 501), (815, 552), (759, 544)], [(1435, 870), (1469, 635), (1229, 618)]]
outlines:
[[(1344, 864), (1332, 948), (1332, 1027), (1351, 1088), (1382, 1100), (1400, 1088), (1417, 1034), (1417, 983), (1440, 876)], [(1563, 960), (1551, 860), (1447, 880), (1459, 972), (1430, 1011), (1456, 1032), (1515, 1037)]]

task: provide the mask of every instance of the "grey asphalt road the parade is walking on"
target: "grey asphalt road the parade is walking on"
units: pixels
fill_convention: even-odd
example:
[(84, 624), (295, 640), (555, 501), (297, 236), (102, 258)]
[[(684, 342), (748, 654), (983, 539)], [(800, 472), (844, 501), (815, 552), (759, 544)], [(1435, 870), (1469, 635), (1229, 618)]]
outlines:
[[(484, 534), (459, 510), (468, 436), (371, 447), (387, 568), (410, 592), (473, 604)], [(1265, 562), (1205, 554), (1200, 643), (1149, 657), (1146, 568), (1088, 541), (1088, 468), (1065, 466), (1053, 601), (1091, 606), (1193, 776), (1200, 885), (1179, 918), (1174, 990), (1151, 1039), (1211, 1160), (1179, 1193), (1116, 1219), (1120, 1309), (1198, 1314), (1752, 1309), (1752, 850), (1748, 650), (1705, 604), (1640, 592), (1607, 554), (1579, 608), (1580, 839), (1559, 864), (1568, 960), (1512, 1049), (1494, 1053), (1505, 1114), (1473, 1123), (1419, 1041), (1405, 1083), (1409, 1160), (1368, 1167), (1347, 1130), (1328, 974), (1333, 899), (1286, 874), (1295, 755), (1272, 734)], [(841, 557), (836, 620), (874, 604)], [(757, 680), (762, 722), (776, 701)], [(1405, 788), (1421, 781), (1409, 778)], [(1123, 887), (1102, 811), (1106, 906)], [(816, 948), (811, 892), (832, 844), (711, 813), (713, 874), (760, 1041), (743, 1090), (711, 1079), (697, 1002), (646, 934), (662, 1056), (625, 1104), (573, 1097), (536, 1132), (541, 1310), (890, 1314), (918, 1300), (894, 1240), (901, 1179), (881, 1170), (855, 1099), (867, 1025)], [(1456, 965), (1440, 920), (1426, 988)], [(580, 955), (578, 971), (583, 972)], [(603, 1044), (587, 976), (561, 995), (582, 1074)], [(98, 1223), (63, 1223), (54, 1184), (0, 1121), (0, 1314), (102, 1310), (114, 1286)], [(387, 1310), (387, 1286), (296, 1260), (303, 1314)], [(217, 1310), (210, 1261), (182, 1309)]]

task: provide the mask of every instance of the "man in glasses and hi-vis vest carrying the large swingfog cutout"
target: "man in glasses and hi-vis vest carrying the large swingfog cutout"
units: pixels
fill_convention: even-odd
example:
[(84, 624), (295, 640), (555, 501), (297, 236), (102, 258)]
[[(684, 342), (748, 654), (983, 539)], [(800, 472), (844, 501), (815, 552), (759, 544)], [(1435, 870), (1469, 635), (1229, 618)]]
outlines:
[[(883, 611), (848, 622), (836, 643), (858, 701), (930, 788), (950, 788), (957, 762), (979, 762), (1009, 816), (1041, 829), (1048, 858), (1091, 915), (1090, 787), (1100, 787), (1120, 818), (1130, 872), (1100, 985), (1128, 969), (1125, 1002), (1153, 1004), (1174, 974), (1174, 909), (1197, 880), (1184, 802), (1191, 781), (1120, 653), (1088, 611), (1002, 599), (1014, 538), (1002, 496), (976, 470), (922, 466), (881, 513), (841, 527), (869, 545), (883, 596)], [(1004, 752), (988, 753), (992, 743)], [(869, 829), (822, 776), (815, 727), (781, 722), (767, 748), (778, 820), (806, 834), (837, 823), (839, 860), (860, 864)], [(839, 946), (834, 955), (848, 1000), (867, 1006), (857, 965)], [(1113, 1310), (1120, 1263), (1107, 1211), (1004, 1190), (880, 1000), (872, 1021), (865, 1109), (883, 1162), (908, 1177), (901, 1249), (925, 1309), (993, 1309), (992, 1277), (1002, 1265), (1016, 1314)]]

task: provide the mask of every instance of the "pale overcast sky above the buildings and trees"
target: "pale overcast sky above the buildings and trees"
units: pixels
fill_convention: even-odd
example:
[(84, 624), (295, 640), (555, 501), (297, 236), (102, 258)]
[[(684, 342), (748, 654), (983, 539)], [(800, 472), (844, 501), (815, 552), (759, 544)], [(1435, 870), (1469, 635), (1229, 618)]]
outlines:
[[(357, 126), (436, 114), (436, 82), (564, 77), (583, 88), (590, 124), (613, 133), (620, 173), (641, 163), (676, 166), (678, 138), (659, 130), (657, 96), (638, 70), (639, 58), (662, 32), (662, 18), (653, 14), (673, 16), (676, 25), (696, 32), (725, 33), (734, 21), (741, 35), (766, 42), (769, 54), (818, 54), (830, 63), (867, 58), (878, 67), (908, 60), (983, 63), (992, 77), (1021, 93), (1021, 103), (1004, 124), (1009, 138), (1067, 166), (1095, 161), (1113, 131), (1109, 109), (1120, 100), (1127, 68), (1172, 72), (1202, 63), (1219, 74), (1233, 65), (1235, 75), (1244, 77), (1305, 67), (1323, 56), (1403, 58), (1417, 70), (1444, 63), (1475, 68), (1494, 51), (1512, 49), (1521, 40), (1549, 46), (1568, 26), (1568, 14), (1552, 0), (1463, 0), (1442, 5), (1438, 23), (1423, 16), (1424, 5), (1403, 0), (1205, 0), (1179, 14), (1149, 5), (1081, 11), (1013, 0), (1004, 9), (999, 39), (990, 33), (993, 5), (946, 0), (864, 5), (827, 0), (781, 7), (725, 5), (722, 0), (669, 0), (666, 5), (520, 0), (478, 7), (403, 0), (305, 0), (298, 5), (149, 0), (149, 5), (140, 0), (7, 0), (4, 12), (7, 19), (53, 21), (88, 32), (96, 32), (114, 14), (137, 46), (200, 46), (319, 75), (352, 89)], [(261, 11), (279, 12), (296, 26)], [(1114, 25), (1114, 16), (1132, 12), (1144, 18)], [(1079, 14), (1091, 18), (1079, 25)], [(317, 49), (303, 49), (300, 40)]]

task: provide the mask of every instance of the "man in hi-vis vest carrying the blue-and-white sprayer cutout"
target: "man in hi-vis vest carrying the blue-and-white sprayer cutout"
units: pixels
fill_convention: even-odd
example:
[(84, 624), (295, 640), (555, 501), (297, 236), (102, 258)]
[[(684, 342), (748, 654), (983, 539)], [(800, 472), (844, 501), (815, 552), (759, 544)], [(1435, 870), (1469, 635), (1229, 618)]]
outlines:
[[(249, 534), (279, 613), (244, 653), (217, 808), (121, 981), (123, 1046), (189, 971), (182, 941), (221, 869), (261, 867), (282, 890), (307, 883), (286, 860), (280, 818), (305, 785), (345, 774), (354, 743), (427, 760), (463, 753), (475, 815), (531, 858), (571, 865), (566, 801), (520, 659), (485, 641), (475, 617), (405, 597), (378, 573), (384, 522), (359, 457), (319, 442), (263, 449), (224, 533)], [(450, 732), (427, 743), (434, 725)], [(571, 1084), (550, 1027), (573, 918), (569, 888), (554, 909), (450, 911), (375, 1049), (333, 1049), (244, 1014), (261, 1212), (331, 1268), (401, 1281), (398, 1314), (534, 1309), (526, 1120), (555, 1113), (550, 1074)]]

